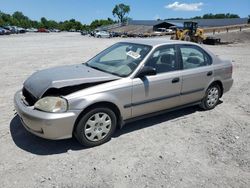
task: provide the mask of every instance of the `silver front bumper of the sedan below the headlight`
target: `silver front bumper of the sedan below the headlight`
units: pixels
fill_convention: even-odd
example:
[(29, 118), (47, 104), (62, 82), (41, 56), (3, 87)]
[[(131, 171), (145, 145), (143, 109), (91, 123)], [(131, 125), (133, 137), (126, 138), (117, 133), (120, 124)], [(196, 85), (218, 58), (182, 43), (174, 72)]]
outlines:
[(71, 138), (75, 121), (81, 112), (70, 110), (64, 113), (49, 113), (36, 110), (23, 102), (22, 91), (15, 94), (14, 105), (23, 126), (29, 132), (52, 140)]

